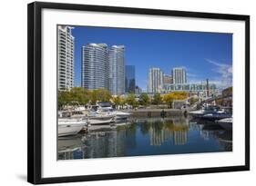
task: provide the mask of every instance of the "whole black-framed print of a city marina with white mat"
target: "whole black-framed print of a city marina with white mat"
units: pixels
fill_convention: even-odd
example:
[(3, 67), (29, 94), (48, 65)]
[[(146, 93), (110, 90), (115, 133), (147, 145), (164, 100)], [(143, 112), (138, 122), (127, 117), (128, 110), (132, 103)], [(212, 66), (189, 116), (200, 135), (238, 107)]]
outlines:
[(28, 5), (31, 183), (250, 169), (250, 16)]

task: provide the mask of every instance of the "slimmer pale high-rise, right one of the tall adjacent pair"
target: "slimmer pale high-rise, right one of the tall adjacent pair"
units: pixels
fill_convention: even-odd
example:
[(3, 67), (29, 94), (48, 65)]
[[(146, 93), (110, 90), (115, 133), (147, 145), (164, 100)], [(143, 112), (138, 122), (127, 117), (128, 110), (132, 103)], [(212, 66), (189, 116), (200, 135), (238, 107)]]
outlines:
[(113, 45), (108, 51), (109, 90), (114, 95), (125, 93), (125, 46)]

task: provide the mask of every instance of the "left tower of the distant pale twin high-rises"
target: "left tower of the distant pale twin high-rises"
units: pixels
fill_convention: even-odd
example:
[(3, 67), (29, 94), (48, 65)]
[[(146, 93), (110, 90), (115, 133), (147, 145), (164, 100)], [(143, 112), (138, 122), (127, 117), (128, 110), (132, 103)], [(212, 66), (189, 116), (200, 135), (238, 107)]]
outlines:
[(148, 72), (148, 93), (160, 93), (163, 85), (163, 72), (159, 68), (150, 68)]

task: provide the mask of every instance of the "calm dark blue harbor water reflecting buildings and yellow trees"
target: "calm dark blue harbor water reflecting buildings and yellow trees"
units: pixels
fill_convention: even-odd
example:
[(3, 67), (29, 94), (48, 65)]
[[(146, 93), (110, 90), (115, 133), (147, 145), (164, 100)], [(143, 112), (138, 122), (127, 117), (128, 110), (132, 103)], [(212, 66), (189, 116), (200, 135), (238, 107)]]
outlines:
[(184, 117), (132, 119), (58, 139), (59, 160), (231, 151), (232, 131)]

